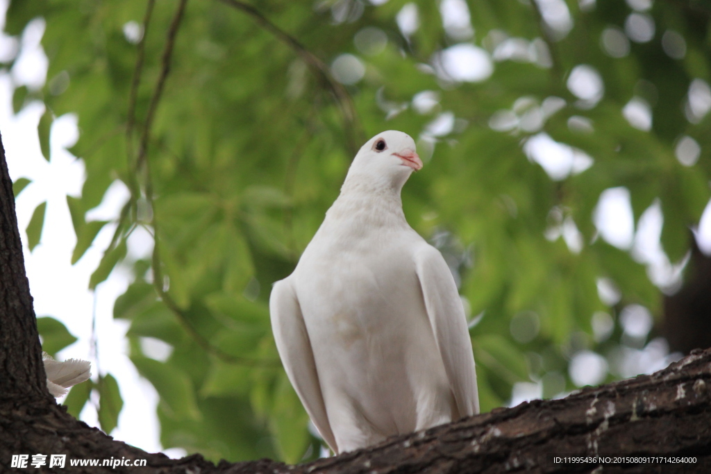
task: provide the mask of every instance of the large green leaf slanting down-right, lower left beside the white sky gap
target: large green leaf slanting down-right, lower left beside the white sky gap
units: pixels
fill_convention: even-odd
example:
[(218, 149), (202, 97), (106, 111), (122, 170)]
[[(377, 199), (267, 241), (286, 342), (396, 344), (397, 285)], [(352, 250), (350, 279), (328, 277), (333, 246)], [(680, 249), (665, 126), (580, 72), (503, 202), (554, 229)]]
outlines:
[(190, 420), (201, 419), (193, 383), (185, 372), (148, 357), (132, 356), (131, 360), (141, 375), (153, 384), (161, 396), (161, 404), (164, 404), (173, 416)]

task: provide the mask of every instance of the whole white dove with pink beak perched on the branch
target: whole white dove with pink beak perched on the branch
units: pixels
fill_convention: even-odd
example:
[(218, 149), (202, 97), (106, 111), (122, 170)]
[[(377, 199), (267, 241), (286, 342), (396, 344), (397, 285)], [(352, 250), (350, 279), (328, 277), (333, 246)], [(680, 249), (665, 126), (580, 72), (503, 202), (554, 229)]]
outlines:
[(269, 299), (289, 381), (334, 453), (479, 413), (464, 308), (442, 254), (405, 220), (415, 141), (384, 131)]

